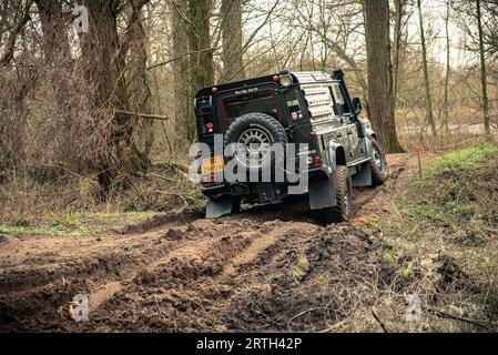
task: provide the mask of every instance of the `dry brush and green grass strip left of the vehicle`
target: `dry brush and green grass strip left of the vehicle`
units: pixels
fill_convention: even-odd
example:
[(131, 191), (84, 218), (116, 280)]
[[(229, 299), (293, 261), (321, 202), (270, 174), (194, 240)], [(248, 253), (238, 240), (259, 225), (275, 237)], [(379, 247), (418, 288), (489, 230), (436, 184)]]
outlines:
[(95, 176), (62, 175), (39, 181), (16, 172), (0, 184), (0, 234), (88, 235), (156, 212), (204, 204), (185, 163), (155, 163), (131, 178), (128, 190), (103, 201)]

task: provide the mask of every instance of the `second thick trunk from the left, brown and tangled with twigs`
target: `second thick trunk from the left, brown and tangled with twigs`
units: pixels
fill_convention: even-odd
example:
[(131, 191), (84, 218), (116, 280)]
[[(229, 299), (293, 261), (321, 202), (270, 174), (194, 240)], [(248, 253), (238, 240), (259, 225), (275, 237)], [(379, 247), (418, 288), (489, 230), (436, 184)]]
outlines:
[(99, 156), (99, 183), (106, 195), (113, 186), (126, 186), (138, 166), (132, 149), (133, 116), (130, 111), (116, 27), (119, 1), (89, 1), (90, 31), (81, 36), (84, 78), (95, 112), (110, 115), (109, 143)]

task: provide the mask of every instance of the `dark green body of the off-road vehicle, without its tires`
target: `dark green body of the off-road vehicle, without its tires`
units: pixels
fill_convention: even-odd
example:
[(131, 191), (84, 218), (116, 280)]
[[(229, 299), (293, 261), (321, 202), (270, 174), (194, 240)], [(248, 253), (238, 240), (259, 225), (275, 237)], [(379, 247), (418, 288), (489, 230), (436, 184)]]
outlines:
[[(285, 80), (282, 80), (285, 78)], [(288, 81), (288, 79), (291, 81)], [(282, 84), (282, 83), (285, 83)], [(194, 101), (199, 141), (213, 149), (214, 134), (225, 134), (241, 115), (267, 114), (282, 124), (289, 143), (307, 143), (308, 150), (296, 152), (306, 159), (305, 171), (311, 210), (336, 204), (334, 171), (347, 166), (353, 186), (373, 182), (373, 142), (370, 122), (360, 119), (358, 99), (352, 99), (342, 70), (332, 75), (323, 72), (287, 72), (204, 88)], [(383, 155), (384, 168), (385, 164)], [(375, 168), (375, 166), (374, 166)], [(233, 202), (277, 204), (288, 195), (289, 183), (238, 183), (204, 181), (203, 193), (210, 199), (209, 217), (230, 213)]]

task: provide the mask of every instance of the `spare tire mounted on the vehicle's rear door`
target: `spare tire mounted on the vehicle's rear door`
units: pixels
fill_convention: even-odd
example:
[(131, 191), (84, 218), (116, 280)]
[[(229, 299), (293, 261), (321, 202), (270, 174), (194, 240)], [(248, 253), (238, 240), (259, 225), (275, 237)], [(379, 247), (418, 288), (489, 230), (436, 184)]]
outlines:
[[(254, 143), (255, 146), (262, 146), (263, 144), (282, 143), (285, 146), (287, 133), (284, 126), (273, 116), (261, 112), (252, 112), (241, 115), (230, 125), (225, 133), (224, 144), (227, 146), (232, 143), (246, 146), (245, 155), (240, 158), (243, 165), (246, 165), (248, 156), (257, 156), (258, 163), (254, 168), (261, 170), (264, 162), (267, 162), (267, 159), (271, 159), (270, 163), (274, 164), (274, 156), (272, 156), (271, 152), (266, 155), (262, 153), (262, 156), (254, 154), (255, 151), (257, 152), (257, 149), (253, 151), (251, 144)], [(251, 155), (251, 152), (254, 155)]]

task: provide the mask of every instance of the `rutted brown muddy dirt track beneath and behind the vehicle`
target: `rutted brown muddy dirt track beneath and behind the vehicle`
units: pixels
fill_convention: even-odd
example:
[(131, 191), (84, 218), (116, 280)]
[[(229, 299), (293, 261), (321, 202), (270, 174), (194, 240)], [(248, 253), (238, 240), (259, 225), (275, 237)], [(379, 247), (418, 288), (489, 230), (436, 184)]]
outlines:
[[(388, 195), (415, 174), (389, 156), (385, 186), (355, 192), (352, 223), (323, 227), (296, 206), (220, 220), (160, 214), (92, 236), (0, 242), (0, 331), (325, 331), (375, 302), (395, 272), (364, 230), (392, 213)], [(403, 182), (403, 183), (402, 183)], [(68, 316), (88, 294), (90, 321)]]

